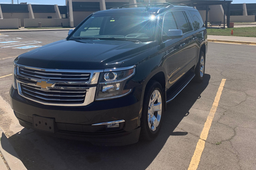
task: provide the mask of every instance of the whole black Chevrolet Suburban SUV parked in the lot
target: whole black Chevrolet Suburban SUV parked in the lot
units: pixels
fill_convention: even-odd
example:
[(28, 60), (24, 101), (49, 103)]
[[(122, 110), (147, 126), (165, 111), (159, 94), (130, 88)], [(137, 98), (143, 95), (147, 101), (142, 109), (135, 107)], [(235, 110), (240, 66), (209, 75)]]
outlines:
[(157, 136), (166, 104), (204, 78), (207, 33), (192, 7), (139, 6), (95, 12), (65, 40), (14, 60), (21, 126), (104, 145)]

